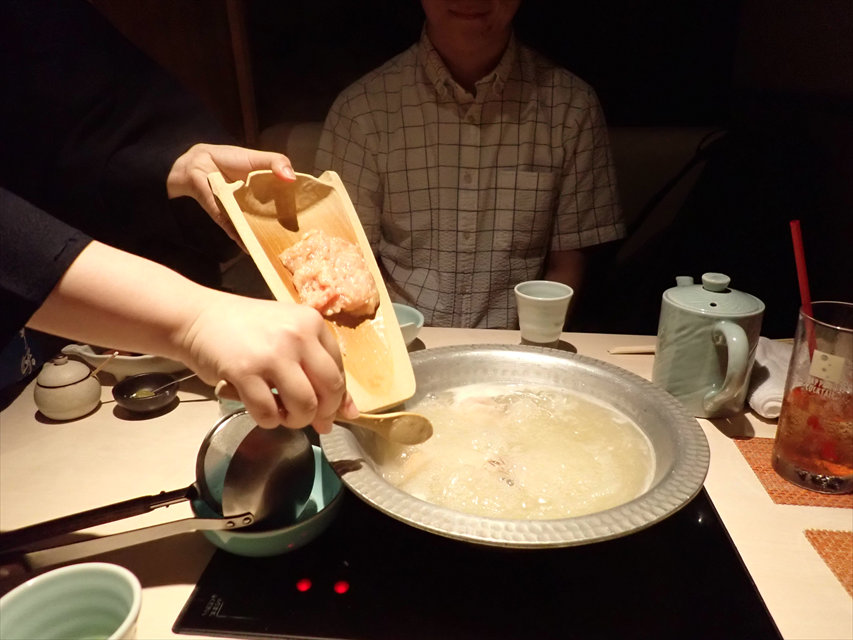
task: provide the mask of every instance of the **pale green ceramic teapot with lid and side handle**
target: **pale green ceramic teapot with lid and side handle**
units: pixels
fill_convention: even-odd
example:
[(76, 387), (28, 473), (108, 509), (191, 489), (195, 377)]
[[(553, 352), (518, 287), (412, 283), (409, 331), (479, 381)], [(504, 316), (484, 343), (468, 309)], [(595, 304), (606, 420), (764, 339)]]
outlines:
[(764, 303), (729, 287), (722, 273), (702, 284), (676, 278), (663, 294), (652, 382), (697, 418), (722, 418), (743, 409)]

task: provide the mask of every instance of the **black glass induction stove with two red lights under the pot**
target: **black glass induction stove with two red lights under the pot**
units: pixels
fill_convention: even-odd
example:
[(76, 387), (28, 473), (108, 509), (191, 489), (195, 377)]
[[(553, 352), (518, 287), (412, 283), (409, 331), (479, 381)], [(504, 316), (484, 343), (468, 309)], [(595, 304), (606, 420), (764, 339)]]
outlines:
[(501, 549), (426, 533), (347, 494), (310, 545), (217, 551), (176, 633), (339, 640), (780, 638), (703, 489), (644, 531)]

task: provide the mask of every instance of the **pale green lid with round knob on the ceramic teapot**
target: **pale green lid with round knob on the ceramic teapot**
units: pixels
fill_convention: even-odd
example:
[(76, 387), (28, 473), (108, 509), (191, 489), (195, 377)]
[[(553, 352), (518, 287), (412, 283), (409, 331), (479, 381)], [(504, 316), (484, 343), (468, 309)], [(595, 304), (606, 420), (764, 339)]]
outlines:
[(664, 291), (665, 301), (687, 311), (737, 317), (751, 316), (764, 311), (764, 303), (753, 295), (730, 289), (731, 278), (724, 273), (702, 274), (702, 284), (693, 284), (693, 278), (679, 276), (678, 286)]

